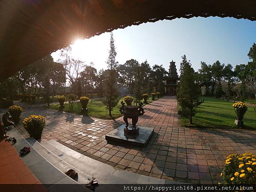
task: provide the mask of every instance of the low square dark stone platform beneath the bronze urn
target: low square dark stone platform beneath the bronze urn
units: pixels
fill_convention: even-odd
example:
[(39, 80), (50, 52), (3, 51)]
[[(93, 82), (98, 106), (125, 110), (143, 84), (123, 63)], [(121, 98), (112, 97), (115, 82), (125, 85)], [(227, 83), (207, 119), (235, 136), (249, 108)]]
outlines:
[(138, 135), (128, 135), (124, 133), (125, 124), (120, 125), (118, 128), (110, 131), (105, 135), (105, 139), (108, 143), (115, 145), (136, 145), (138, 147), (144, 147), (147, 145), (151, 135), (154, 133), (154, 128), (137, 126), (140, 129)]

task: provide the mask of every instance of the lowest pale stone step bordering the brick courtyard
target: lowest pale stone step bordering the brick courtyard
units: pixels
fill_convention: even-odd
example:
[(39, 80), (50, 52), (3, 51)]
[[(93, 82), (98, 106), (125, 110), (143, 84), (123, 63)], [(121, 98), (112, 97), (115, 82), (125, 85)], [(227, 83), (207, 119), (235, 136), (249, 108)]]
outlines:
[[(42, 141), (43, 143), (47, 142), (45, 140)], [(145, 175), (139, 175), (137, 173), (132, 173), (124, 170), (117, 170), (113, 166), (108, 164), (99, 162), (94, 160), (90, 157), (84, 156), (79, 152), (70, 149), (61, 143), (58, 143), (55, 140), (49, 140), (47, 143), (52, 144), (55, 148), (58, 148), (60, 151), (65, 151), (66, 154), (70, 155), (64, 161), (73, 165), (73, 166), (80, 166), (87, 167), (88, 170), (86, 173), (97, 179), (103, 180), (104, 183), (108, 184), (176, 184), (178, 182), (170, 181), (170, 180), (163, 180), (154, 177), (148, 177)], [(79, 168), (78, 168), (79, 169)], [(90, 171), (90, 169), (93, 169)]]

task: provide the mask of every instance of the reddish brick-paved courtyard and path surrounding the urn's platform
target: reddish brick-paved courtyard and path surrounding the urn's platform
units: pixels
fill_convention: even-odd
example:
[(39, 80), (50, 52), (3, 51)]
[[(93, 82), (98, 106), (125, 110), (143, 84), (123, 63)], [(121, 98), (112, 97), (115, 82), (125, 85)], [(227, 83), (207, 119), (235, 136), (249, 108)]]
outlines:
[[(137, 125), (154, 128), (144, 148), (120, 147), (106, 142), (105, 134), (122, 125), (122, 117), (102, 120), (35, 105), (24, 108), (21, 119), (30, 114), (47, 118), (44, 139), (54, 139), (93, 159), (151, 177), (218, 183), (228, 154), (256, 153), (255, 131), (179, 127), (177, 101), (173, 96), (164, 96), (144, 107), (145, 114), (140, 116)], [(28, 137), (22, 125), (17, 126), (17, 130)]]

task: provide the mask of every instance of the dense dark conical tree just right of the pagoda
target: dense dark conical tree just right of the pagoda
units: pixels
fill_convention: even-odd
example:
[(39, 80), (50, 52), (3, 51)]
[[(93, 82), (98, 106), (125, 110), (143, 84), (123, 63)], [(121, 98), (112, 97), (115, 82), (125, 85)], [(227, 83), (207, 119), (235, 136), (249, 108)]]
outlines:
[(198, 84), (195, 83), (195, 71), (191, 67), (190, 61), (187, 61), (186, 55), (183, 55), (180, 63), (180, 82), (177, 91), (177, 101), (180, 105), (178, 114), (189, 119), (192, 124), (192, 116), (195, 116), (197, 108), (204, 100), (200, 100), (201, 91)]

